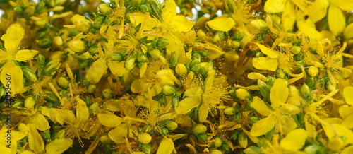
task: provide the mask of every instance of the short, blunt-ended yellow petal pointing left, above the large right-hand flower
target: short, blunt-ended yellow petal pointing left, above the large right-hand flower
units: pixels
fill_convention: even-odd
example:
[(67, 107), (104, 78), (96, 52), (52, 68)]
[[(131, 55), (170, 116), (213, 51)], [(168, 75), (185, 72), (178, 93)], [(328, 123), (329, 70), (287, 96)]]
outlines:
[(255, 67), (256, 69), (276, 71), (277, 66), (277, 59), (271, 59), (269, 57), (253, 58), (253, 67)]

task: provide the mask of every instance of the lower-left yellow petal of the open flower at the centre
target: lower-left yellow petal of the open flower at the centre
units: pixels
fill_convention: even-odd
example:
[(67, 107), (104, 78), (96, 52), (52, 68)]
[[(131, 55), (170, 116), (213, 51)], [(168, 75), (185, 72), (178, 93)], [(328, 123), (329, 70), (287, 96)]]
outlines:
[(198, 107), (201, 102), (201, 97), (186, 97), (179, 102), (179, 106), (175, 108), (175, 111), (179, 114), (186, 114), (191, 111), (191, 109)]

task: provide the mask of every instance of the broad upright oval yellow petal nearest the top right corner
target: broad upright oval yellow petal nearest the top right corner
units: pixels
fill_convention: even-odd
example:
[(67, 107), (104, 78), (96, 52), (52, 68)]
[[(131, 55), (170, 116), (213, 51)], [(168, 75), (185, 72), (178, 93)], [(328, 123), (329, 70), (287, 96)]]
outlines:
[(333, 35), (340, 35), (346, 27), (345, 15), (343, 15), (340, 8), (335, 5), (328, 7), (328, 28), (330, 28)]

